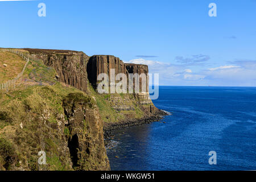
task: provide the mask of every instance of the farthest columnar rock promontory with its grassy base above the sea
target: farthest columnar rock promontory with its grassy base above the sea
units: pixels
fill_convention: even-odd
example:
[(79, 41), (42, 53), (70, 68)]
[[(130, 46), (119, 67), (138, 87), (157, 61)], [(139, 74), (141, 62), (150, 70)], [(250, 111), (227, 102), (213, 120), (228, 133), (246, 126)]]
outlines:
[[(142, 64), (126, 64), (118, 57), (106, 55), (94, 55), (90, 57), (87, 64), (88, 80), (93, 88), (97, 90), (97, 76), (100, 73), (106, 73), (110, 77), (110, 69), (115, 70), (115, 76), (124, 73), (127, 77), (127, 88), (129, 88), (129, 76), (135, 74), (139, 77), (139, 92), (133, 94), (110, 94), (106, 96), (110, 106), (121, 112), (124, 119), (151, 117), (159, 111), (152, 101), (148, 93), (148, 66)], [(135, 90), (135, 78), (133, 79), (133, 89)], [(109, 80), (110, 82), (110, 80)], [(118, 81), (117, 81), (118, 82)], [(144, 89), (142, 89), (144, 86)], [(129, 92), (129, 90), (127, 90)], [(110, 121), (111, 122), (111, 121)]]

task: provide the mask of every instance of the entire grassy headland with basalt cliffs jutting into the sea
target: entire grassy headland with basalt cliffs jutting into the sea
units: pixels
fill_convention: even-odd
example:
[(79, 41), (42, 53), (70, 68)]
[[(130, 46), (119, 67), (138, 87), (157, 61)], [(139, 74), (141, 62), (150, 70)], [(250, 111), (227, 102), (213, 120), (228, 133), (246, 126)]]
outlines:
[[(154, 106), (148, 89), (97, 92), (100, 73), (110, 75), (114, 69), (115, 75), (147, 74), (147, 65), (79, 51), (13, 50), (31, 59), (13, 88), (0, 90), (1, 170), (110, 170), (104, 134), (108, 137), (119, 127), (158, 121), (166, 115)], [(15, 56), (0, 52), (0, 61)], [(19, 69), (15, 63), (8, 67)], [(38, 163), (40, 151), (45, 152), (47, 164)]]

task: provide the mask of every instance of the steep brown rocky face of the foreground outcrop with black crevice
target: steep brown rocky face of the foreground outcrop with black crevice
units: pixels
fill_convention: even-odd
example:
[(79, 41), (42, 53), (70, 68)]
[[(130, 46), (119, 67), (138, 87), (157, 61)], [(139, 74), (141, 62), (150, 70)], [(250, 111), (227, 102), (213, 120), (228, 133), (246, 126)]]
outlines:
[(63, 99), (63, 109), (73, 169), (109, 170), (103, 125), (94, 100), (82, 93), (70, 93)]

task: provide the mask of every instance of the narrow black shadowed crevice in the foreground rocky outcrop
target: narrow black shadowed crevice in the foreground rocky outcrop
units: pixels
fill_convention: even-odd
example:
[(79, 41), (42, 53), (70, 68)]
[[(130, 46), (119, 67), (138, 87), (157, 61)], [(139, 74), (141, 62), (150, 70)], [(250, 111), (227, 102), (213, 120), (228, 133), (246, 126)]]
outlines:
[(68, 139), (68, 148), (71, 155), (73, 167), (77, 167), (77, 162), (78, 162), (77, 152), (79, 148), (79, 138), (77, 137), (77, 134), (75, 134), (72, 138)]

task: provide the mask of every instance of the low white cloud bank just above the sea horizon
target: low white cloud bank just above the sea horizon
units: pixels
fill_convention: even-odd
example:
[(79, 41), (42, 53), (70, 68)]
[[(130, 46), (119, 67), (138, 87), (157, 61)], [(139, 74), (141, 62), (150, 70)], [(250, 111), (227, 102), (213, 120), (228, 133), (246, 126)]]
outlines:
[[(207, 56), (194, 56), (196, 61), (206, 61)], [(146, 64), (150, 73), (159, 73), (160, 85), (191, 85), (191, 86), (256, 86), (256, 61), (234, 60), (214, 68), (201, 68), (193, 72), (189, 63), (170, 64), (160, 61), (134, 59), (127, 63)], [(188, 64), (185, 64), (188, 63)], [(230, 64), (230, 65), (229, 65)]]

